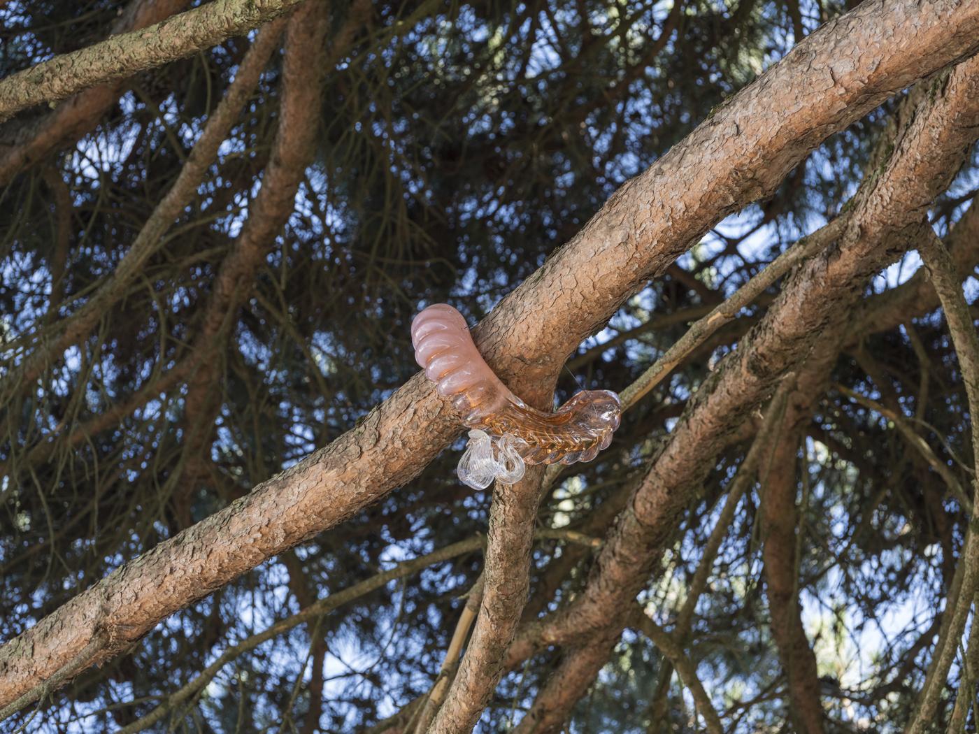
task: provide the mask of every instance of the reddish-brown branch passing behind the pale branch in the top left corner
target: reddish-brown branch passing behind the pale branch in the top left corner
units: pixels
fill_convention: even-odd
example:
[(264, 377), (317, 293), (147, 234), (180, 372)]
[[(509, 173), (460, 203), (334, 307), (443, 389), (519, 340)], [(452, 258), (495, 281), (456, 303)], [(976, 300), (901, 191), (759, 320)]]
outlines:
[[(113, 33), (124, 33), (159, 23), (178, 13), (188, 0), (133, 0), (114, 23)], [(49, 115), (25, 126), (11, 146), (0, 146), (0, 187), (25, 167), (77, 141), (116, 104), (125, 80), (102, 84), (74, 95)]]

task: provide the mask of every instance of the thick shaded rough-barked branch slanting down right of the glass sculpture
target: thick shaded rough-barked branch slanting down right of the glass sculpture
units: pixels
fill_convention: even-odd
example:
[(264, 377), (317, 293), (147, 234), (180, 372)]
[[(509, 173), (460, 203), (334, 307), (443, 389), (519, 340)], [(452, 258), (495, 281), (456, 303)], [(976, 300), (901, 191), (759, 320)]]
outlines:
[[(606, 649), (611, 645), (625, 626), (623, 611), (646, 582), (727, 436), (768, 395), (778, 376), (807, 358), (816, 337), (832, 326), (833, 314), (861, 298), (867, 279), (916, 244), (927, 226), (928, 206), (948, 186), (979, 134), (979, 59), (937, 80), (931, 92), (882, 170), (862, 186), (838, 246), (789, 279), (762, 323), (691, 400), (609, 534), (583, 593), (553, 619), (518, 635), (515, 655), (526, 658), (542, 647), (583, 639), (589, 649), (600, 638)], [(568, 675), (565, 668), (574, 667), (580, 685), (590, 682), (601, 663), (597, 656), (588, 662), (591, 677), (583, 675), (574, 657), (555, 675)], [(538, 707), (567, 712), (585, 688), (548, 684), (529, 715)]]

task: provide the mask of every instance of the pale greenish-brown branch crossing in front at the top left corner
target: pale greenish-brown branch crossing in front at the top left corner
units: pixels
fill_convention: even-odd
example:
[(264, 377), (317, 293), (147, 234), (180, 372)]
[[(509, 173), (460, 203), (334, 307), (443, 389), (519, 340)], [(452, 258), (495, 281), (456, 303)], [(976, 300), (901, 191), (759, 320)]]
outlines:
[(0, 79), (0, 122), (28, 107), (63, 100), (96, 84), (191, 56), (268, 23), (300, 2), (214, 0), (163, 23), (110, 36), (24, 69)]

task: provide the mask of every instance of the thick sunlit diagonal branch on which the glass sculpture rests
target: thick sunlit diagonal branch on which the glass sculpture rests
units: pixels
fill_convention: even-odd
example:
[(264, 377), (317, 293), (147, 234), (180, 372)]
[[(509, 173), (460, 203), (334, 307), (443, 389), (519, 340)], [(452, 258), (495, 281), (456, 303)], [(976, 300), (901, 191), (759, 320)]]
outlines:
[[(828, 23), (622, 187), (568, 246), (499, 303), (476, 333), (490, 366), (518, 392), (542, 384), (584, 336), (724, 215), (769, 195), (829, 134), (977, 47), (977, 0), (865, 2)], [(828, 262), (818, 259), (817, 280), (852, 275), (849, 268), (862, 254), (856, 248), (834, 252)], [(866, 260), (864, 268), (872, 264)], [(790, 302), (780, 311), (791, 323), (808, 305)], [(769, 324), (756, 340), (772, 342), (780, 331)], [(764, 350), (751, 360), (739, 358), (729, 372), (764, 388), (805, 343), (786, 347), (777, 359)], [(700, 400), (698, 415), (726, 401), (750, 402), (712, 387), (705, 386), (712, 395)], [(724, 419), (713, 426), (714, 419), (703, 420), (704, 429), (728, 430)], [(689, 431), (691, 421), (686, 426)], [(347, 520), (416, 476), (457, 431), (450, 407), (416, 376), (348, 434), (124, 565), (0, 649), (0, 703), (15, 700), (82, 651), (89, 651), (85, 665), (106, 660), (167, 615)], [(675, 460), (683, 463), (670, 455), (658, 466), (665, 471)], [(673, 512), (644, 493), (613, 545), (619, 548), (631, 532), (646, 535), (643, 526), (657, 528), (657, 518)], [(602, 568), (619, 553), (603, 553)], [(627, 551), (616, 562), (629, 557)], [(93, 638), (102, 642), (91, 652), (86, 646)]]

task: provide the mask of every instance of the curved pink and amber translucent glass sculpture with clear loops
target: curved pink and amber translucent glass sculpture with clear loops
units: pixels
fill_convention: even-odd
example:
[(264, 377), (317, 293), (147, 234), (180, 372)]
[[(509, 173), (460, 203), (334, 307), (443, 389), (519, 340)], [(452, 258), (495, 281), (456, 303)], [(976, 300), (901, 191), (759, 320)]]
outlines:
[[(520, 477), (525, 463), (590, 461), (619, 428), (622, 405), (610, 390), (583, 390), (553, 413), (527, 405), (489, 369), (466, 320), (450, 305), (437, 303), (415, 316), (411, 341), (439, 394), (451, 398), (463, 423), (475, 429), (459, 462), (459, 477), (471, 486), (489, 486), (493, 477), (516, 482), (504, 478), (517, 476), (517, 459)], [(487, 479), (499, 467), (505, 471)]]

